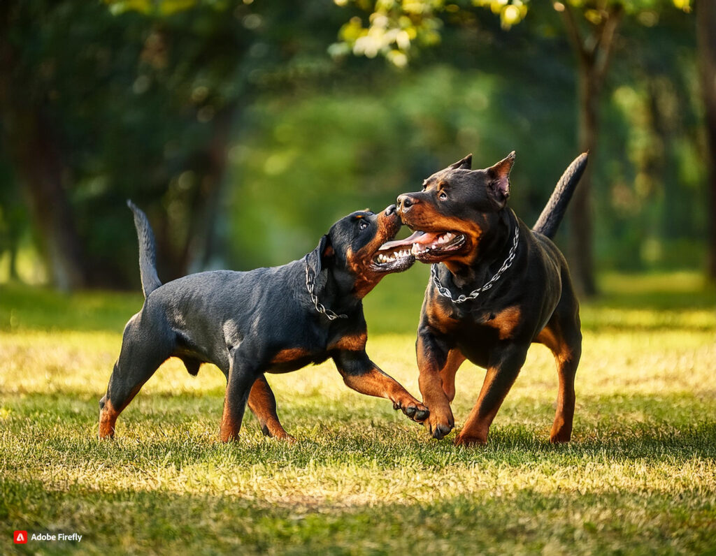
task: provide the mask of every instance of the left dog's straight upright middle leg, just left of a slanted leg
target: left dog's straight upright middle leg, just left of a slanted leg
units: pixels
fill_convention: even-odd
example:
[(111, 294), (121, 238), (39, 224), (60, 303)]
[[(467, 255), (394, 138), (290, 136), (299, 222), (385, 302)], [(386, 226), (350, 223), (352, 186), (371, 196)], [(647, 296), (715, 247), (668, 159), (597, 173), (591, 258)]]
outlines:
[(250, 359), (250, 356), (242, 357), (239, 350), (231, 350), (224, 409), (221, 416), (221, 442), (238, 440), (238, 431), (241, 430), (248, 394), (261, 374), (251, 366)]

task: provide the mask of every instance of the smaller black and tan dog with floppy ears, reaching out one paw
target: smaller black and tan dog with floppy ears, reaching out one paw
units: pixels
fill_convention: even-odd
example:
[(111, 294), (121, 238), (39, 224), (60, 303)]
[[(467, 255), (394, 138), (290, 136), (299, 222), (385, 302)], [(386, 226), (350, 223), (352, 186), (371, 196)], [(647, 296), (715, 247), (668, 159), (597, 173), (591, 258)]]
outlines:
[(131, 201), (140, 247), (145, 302), (125, 326), (120, 356), (100, 400), (100, 438), (112, 438), (117, 416), (171, 356), (196, 375), (202, 363), (226, 376), (221, 440), (238, 439), (248, 407), (266, 436), (292, 440), (276, 414), (265, 373), (295, 371), (333, 359), (349, 388), (390, 399), (415, 421), (430, 414), (365, 352), (362, 298), (384, 275), (407, 270), (412, 256), (378, 253), (395, 238), (395, 205), (335, 223), (301, 260), (248, 272), (215, 270), (162, 284), (155, 240), (145, 213)]

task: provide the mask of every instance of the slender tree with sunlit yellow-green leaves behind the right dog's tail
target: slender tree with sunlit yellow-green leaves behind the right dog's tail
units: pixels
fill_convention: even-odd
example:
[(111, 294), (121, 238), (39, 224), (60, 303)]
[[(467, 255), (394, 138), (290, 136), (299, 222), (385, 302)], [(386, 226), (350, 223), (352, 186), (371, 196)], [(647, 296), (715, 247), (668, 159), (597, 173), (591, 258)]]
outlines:
[[(347, 1), (337, 1), (347, 4)], [(442, 19), (455, 20), (467, 11), (458, 4), (441, 0), (377, 1), (374, 5), (357, 0), (357, 6), (369, 9), (369, 24), (354, 16), (341, 30), (346, 47), (354, 54), (375, 57), (382, 54), (393, 64), (407, 64), (414, 44), (431, 45), (440, 38)], [(473, 0), (475, 6), (489, 7), (500, 16), (505, 29), (518, 24), (528, 9), (541, 9), (529, 0)], [(673, 4), (690, 10), (690, 0), (565, 0), (553, 2), (561, 14), (563, 28), (576, 55), (578, 82), (579, 149), (590, 152), (590, 164), (572, 200), (571, 258), (576, 283), (586, 296), (596, 293), (594, 280), (594, 230), (591, 210), (591, 175), (598, 158), (600, 100), (609, 63), (614, 53), (616, 33), (624, 16), (653, 21), (658, 9)], [(647, 14), (644, 16), (644, 14)], [(442, 17), (442, 19), (440, 19)]]

